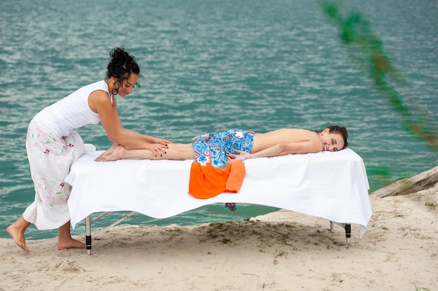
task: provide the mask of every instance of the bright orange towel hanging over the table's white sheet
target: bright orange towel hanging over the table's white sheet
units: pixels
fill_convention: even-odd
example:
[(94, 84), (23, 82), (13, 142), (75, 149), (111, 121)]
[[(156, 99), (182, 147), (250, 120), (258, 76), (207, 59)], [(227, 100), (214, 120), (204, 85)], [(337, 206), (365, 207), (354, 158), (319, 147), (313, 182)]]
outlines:
[(220, 193), (237, 193), (245, 178), (245, 164), (241, 159), (227, 163), (225, 169), (213, 167), (211, 163), (205, 166), (197, 162), (190, 168), (189, 193), (198, 199), (215, 197)]

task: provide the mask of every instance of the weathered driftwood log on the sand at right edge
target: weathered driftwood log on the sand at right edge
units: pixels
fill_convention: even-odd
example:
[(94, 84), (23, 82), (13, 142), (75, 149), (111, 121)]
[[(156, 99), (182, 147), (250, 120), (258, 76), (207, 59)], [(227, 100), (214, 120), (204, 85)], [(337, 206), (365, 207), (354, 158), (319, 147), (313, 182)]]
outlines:
[(428, 188), (432, 188), (438, 183), (438, 166), (422, 172), (411, 178), (402, 179), (388, 186), (380, 188), (369, 196), (388, 197), (397, 195), (408, 195)]

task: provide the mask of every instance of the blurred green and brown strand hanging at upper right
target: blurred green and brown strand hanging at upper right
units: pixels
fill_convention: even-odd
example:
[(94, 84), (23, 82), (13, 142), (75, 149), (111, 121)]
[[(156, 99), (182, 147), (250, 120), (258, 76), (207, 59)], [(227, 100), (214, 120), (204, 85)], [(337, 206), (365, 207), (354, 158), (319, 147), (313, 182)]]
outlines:
[[(337, 27), (349, 57), (360, 68), (367, 68), (369, 78), (388, 97), (393, 109), (400, 115), (404, 128), (426, 142), (432, 151), (438, 151), (437, 130), (432, 128), (427, 111), (421, 108), (417, 98), (407, 89), (406, 80), (383, 52), (383, 43), (374, 36), (365, 17), (357, 12), (342, 17), (340, 5), (334, 2), (320, 1), (320, 5), (323, 13)], [(409, 102), (404, 102), (402, 96)]]

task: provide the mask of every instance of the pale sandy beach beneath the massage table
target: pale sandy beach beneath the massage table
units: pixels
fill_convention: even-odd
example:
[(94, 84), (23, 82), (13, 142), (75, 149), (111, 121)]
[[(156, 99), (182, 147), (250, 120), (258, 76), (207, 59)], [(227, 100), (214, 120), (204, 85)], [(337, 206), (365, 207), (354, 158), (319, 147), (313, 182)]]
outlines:
[[(438, 184), (372, 197), (351, 244), (323, 218), (277, 211), (241, 222), (120, 225), (84, 249), (0, 239), (0, 290), (438, 290)], [(85, 234), (76, 237), (85, 241)]]

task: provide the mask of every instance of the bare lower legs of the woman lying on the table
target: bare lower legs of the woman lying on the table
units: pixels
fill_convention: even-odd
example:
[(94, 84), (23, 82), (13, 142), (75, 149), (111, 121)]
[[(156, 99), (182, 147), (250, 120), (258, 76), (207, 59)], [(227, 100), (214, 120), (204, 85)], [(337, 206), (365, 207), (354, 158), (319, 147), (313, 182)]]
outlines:
[(104, 154), (101, 154), (96, 161), (117, 161), (123, 158), (145, 158), (148, 160), (194, 160), (195, 151), (193, 151), (192, 144), (168, 144), (166, 154), (163, 156), (155, 156), (152, 151), (148, 149), (127, 149), (121, 145), (113, 148), (111, 147)]

